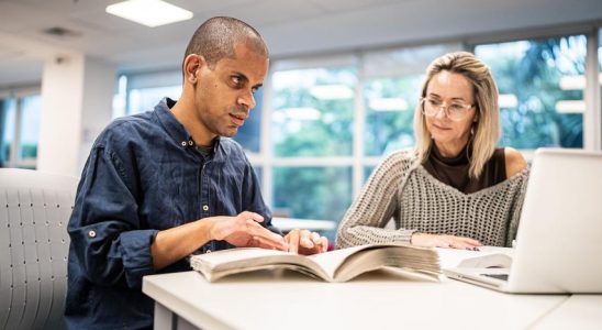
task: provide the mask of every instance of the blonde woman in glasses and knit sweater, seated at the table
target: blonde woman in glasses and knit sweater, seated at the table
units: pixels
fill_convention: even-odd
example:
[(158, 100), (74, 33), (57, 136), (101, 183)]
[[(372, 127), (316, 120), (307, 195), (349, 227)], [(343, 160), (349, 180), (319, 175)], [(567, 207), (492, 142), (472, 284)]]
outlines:
[[(500, 136), (498, 88), (466, 52), (426, 69), (415, 110), (416, 146), (388, 156), (338, 228), (336, 246), (411, 242), (475, 250), (516, 235), (527, 165)], [(393, 218), (395, 229), (386, 229)]]

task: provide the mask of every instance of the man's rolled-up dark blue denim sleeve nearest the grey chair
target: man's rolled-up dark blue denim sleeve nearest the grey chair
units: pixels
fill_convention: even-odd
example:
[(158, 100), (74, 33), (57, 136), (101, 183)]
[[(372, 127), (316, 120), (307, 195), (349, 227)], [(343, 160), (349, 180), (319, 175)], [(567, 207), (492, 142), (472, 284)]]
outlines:
[(142, 228), (137, 188), (121, 160), (96, 145), (78, 187), (69, 221), (71, 250), (88, 280), (141, 288), (154, 274), (150, 245), (157, 230)]

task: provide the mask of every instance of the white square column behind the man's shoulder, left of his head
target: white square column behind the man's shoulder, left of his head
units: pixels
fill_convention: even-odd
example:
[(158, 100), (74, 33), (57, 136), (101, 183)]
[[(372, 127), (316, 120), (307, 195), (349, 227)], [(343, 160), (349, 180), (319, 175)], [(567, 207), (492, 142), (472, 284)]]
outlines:
[(114, 65), (67, 53), (42, 75), (37, 169), (79, 176), (93, 140), (111, 120)]

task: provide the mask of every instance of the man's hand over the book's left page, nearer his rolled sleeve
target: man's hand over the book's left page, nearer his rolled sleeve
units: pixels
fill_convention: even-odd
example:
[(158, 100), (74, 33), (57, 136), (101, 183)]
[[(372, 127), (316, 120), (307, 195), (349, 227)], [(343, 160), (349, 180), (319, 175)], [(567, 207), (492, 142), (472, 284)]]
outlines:
[(264, 248), (288, 251), (285, 239), (261, 227), (264, 217), (254, 212), (242, 212), (236, 217), (215, 217), (211, 227), (211, 239), (224, 240), (238, 248)]

